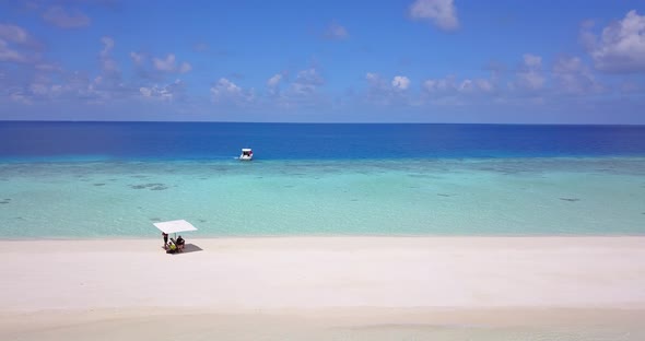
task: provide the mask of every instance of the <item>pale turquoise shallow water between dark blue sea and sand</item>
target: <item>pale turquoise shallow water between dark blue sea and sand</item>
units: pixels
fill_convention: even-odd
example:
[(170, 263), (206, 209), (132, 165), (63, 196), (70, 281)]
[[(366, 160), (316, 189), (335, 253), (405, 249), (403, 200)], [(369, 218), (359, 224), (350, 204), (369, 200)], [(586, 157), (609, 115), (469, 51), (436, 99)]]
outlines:
[(0, 163), (4, 238), (645, 234), (645, 158)]

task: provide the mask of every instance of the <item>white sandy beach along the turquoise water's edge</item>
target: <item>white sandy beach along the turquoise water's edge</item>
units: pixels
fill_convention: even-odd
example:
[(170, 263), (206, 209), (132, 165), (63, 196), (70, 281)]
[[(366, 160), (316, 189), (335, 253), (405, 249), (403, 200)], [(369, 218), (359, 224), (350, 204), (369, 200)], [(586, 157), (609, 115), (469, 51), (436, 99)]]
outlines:
[(645, 237), (187, 243), (3, 242), (3, 340), (645, 338)]

